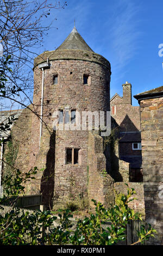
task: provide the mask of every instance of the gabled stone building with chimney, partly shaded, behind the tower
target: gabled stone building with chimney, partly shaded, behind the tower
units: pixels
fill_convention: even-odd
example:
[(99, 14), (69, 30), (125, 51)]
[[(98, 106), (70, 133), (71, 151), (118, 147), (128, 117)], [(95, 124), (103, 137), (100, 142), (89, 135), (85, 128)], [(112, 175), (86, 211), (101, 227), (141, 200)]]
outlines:
[[(141, 182), (141, 150), (133, 150), (133, 143), (141, 142), (140, 108), (138, 106), (132, 106), (131, 84), (126, 83), (122, 86), (123, 97), (116, 94), (110, 100), (112, 120), (116, 122), (116, 129), (119, 132), (118, 139), (120, 152), (118, 154), (118, 158), (121, 159), (121, 161), (118, 162), (116, 156), (114, 157), (115, 161), (113, 166), (117, 166), (116, 169), (118, 169), (119, 171), (116, 173), (113, 171), (113, 175), (115, 176), (115, 174), (118, 174), (115, 178), (116, 181), (124, 181), (127, 179), (127, 181)], [(112, 112), (113, 106), (115, 112)], [(122, 160), (126, 162), (123, 162)], [(135, 169), (132, 170), (131, 168)], [(131, 179), (129, 179), (129, 176), (131, 177)], [(138, 178), (140, 179), (138, 180)]]

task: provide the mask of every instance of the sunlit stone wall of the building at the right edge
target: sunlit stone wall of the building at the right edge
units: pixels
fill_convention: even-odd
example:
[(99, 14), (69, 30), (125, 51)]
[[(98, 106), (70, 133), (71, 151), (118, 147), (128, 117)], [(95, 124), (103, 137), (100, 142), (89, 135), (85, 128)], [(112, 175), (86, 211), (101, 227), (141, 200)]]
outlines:
[(146, 220), (158, 231), (156, 244), (163, 243), (163, 97), (140, 101), (142, 167)]

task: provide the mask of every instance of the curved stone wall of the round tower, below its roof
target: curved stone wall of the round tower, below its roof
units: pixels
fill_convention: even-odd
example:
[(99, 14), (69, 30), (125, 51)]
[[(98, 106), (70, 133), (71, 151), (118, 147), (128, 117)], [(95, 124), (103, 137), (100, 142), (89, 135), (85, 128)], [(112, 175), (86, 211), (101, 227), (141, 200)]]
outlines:
[[(76, 51), (70, 50), (69, 54), (74, 52)], [(54, 111), (65, 110), (67, 107), (69, 111), (75, 109), (82, 117), (82, 111), (110, 110), (110, 70), (106, 60), (105, 65), (102, 65), (98, 59), (96, 62), (82, 60), (82, 54), (85, 53), (79, 52), (80, 59), (72, 59), (72, 56), (70, 59), (66, 56), (64, 59), (65, 51), (60, 52), (61, 59), (49, 58), (51, 69), (45, 70), (40, 149), (40, 120), (35, 115), (32, 119), (33, 140), (30, 148), (30, 164), (45, 169), (37, 175), (38, 186), (34, 184), (35, 192), (41, 191), (43, 198), (46, 198), (45, 201), (48, 200), (49, 194), (49, 197), (53, 198), (55, 209), (66, 206), (67, 203), (76, 204), (78, 198), (82, 197), (84, 204), (87, 204), (88, 131), (82, 131), (82, 126), (81, 130), (75, 131), (57, 130), (54, 138)], [(102, 60), (102, 56), (100, 58)], [(89, 75), (88, 84), (83, 84), (84, 74)], [(58, 75), (57, 84), (53, 84), (54, 75)], [(42, 71), (36, 66), (33, 101), (38, 114), (40, 114), (41, 105), (41, 83)], [(66, 148), (79, 149), (78, 164), (65, 162)], [(51, 177), (50, 181), (49, 178), (46, 179), (47, 176)], [(49, 186), (49, 184), (53, 185)]]

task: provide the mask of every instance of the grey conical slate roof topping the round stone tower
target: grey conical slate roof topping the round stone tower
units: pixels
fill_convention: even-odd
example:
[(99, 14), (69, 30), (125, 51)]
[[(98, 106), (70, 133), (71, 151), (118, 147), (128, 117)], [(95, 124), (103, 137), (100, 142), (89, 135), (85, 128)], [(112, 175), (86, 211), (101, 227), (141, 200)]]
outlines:
[(86, 44), (82, 36), (78, 33), (76, 27), (72, 29), (70, 35), (67, 36), (64, 42), (57, 48), (58, 49), (77, 49), (93, 52), (92, 49)]

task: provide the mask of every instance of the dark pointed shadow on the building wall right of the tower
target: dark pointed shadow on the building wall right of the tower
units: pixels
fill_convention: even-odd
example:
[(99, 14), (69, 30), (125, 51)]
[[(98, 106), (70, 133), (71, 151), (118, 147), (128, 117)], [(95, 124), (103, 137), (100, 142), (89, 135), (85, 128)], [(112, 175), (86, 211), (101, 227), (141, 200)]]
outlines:
[[(110, 145), (107, 145), (104, 151), (106, 170), (116, 182), (124, 180), (142, 182), (141, 151), (136, 150), (135, 155), (136, 151), (131, 148), (133, 142), (141, 141), (140, 131), (137, 130), (128, 115), (123, 119), (120, 126), (111, 117), (111, 130), (114, 132), (111, 132)], [(122, 131), (132, 132), (121, 133)]]

